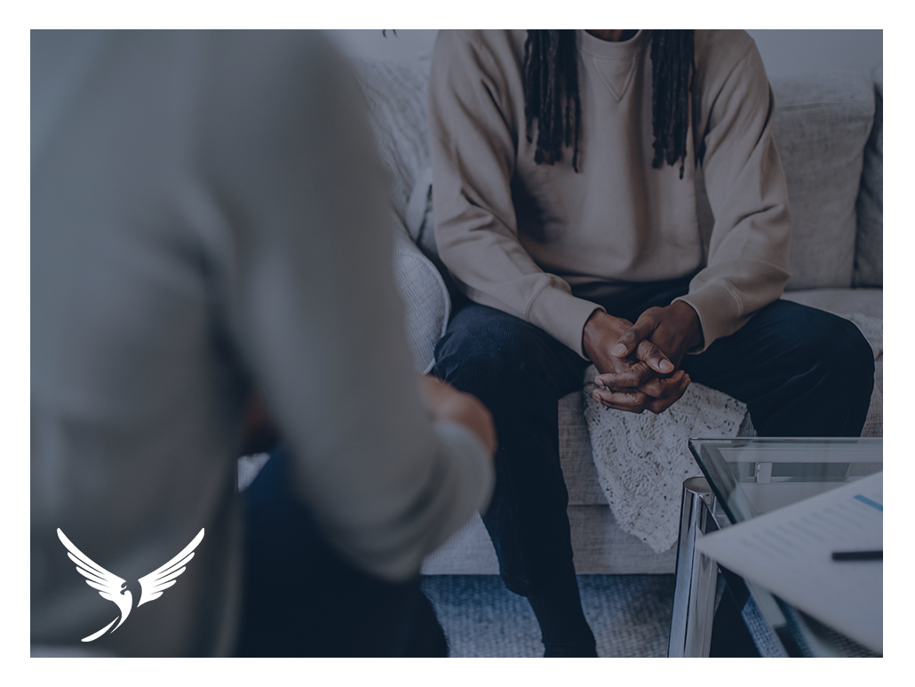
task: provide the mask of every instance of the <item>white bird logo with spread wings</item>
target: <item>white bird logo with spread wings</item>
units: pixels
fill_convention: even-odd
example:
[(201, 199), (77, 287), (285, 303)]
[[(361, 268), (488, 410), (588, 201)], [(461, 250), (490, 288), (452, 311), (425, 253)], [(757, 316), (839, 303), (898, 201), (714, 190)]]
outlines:
[[(114, 618), (95, 634), (82, 638), (84, 642), (91, 642), (93, 639), (102, 637), (114, 623), (117, 623), (117, 625), (114, 626), (112, 632), (124, 625), (124, 620), (130, 615), (130, 611), (134, 606), (134, 594), (127, 590), (126, 580), (114, 573), (109, 573), (101, 565), (93, 562), (89, 556), (77, 549), (73, 542), (67, 539), (67, 535), (60, 528), (58, 528), (58, 537), (60, 543), (67, 547), (67, 551), (70, 551), (67, 555), (70, 557), (70, 561), (76, 563), (76, 569), (86, 578), (86, 583), (93, 589), (98, 589), (99, 595), (103, 599), (113, 601), (121, 611), (121, 616), (119, 616), (120, 623), (117, 623), (119, 618)], [(140, 603), (137, 606), (157, 599), (162, 595), (162, 592), (175, 583), (175, 578), (184, 573), (186, 564), (194, 557), (194, 549), (197, 548), (201, 540), (203, 540), (203, 529), (200, 529), (197, 536), (175, 558), (161, 568), (156, 568), (152, 573), (140, 578)]]

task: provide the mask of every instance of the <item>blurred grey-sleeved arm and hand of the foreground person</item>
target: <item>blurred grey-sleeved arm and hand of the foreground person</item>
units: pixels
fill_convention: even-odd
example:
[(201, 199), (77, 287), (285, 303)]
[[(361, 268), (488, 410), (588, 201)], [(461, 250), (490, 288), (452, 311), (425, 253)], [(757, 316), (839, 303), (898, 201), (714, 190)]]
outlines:
[(403, 580), (486, 507), (491, 462), (420, 402), (387, 178), (345, 63), (317, 39), (226, 39), (205, 159), (227, 199), (231, 326), (292, 449), (293, 490), (343, 554)]

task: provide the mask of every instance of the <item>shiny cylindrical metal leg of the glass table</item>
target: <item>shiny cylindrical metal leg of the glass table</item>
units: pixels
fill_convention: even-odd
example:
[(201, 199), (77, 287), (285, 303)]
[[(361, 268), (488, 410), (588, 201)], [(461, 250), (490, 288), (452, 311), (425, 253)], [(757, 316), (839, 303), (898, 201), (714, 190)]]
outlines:
[(705, 477), (684, 482), (680, 512), (680, 542), (677, 545), (676, 583), (673, 589), (669, 657), (707, 657), (715, 617), (715, 587), (718, 565), (699, 551), (695, 542), (714, 530), (715, 495)]

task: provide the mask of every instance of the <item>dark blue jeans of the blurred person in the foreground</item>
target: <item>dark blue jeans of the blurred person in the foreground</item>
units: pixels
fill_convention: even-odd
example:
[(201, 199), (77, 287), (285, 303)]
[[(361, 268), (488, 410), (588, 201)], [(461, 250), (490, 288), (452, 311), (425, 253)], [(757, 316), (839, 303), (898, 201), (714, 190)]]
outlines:
[(343, 560), (285, 482), (274, 451), (245, 492), (239, 656), (447, 656), (419, 577), (388, 583)]

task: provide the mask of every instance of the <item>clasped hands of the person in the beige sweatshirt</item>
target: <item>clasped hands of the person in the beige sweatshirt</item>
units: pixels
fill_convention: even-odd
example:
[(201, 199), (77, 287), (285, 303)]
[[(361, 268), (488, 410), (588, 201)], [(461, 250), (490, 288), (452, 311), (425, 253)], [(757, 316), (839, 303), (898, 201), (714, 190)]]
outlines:
[(595, 311), (582, 337), (599, 373), (595, 400), (633, 413), (663, 412), (683, 397), (690, 377), (678, 367), (702, 341), (698, 315), (681, 300), (644, 311), (635, 324)]

